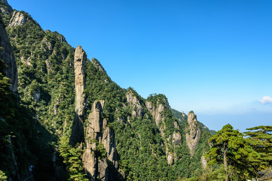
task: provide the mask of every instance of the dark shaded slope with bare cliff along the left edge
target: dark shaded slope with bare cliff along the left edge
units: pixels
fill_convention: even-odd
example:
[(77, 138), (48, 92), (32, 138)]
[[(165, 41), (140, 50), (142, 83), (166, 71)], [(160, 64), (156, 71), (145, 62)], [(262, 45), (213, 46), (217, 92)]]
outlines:
[[(1, 5), (1, 10), (5, 10)], [(37, 173), (38, 167), (42, 167), (45, 172), (52, 171), (46, 165), (48, 157), (45, 156), (48, 155), (50, 144), (40, 137), (43, 133), (51, 140), (51, 136), (32, 119), (30, 110), (18, 98), (15, 56), (4, 26), (0, 16), (0, 169), (9, 179), (18, 180), (28, 171), (30, 164), (39, 163)]]

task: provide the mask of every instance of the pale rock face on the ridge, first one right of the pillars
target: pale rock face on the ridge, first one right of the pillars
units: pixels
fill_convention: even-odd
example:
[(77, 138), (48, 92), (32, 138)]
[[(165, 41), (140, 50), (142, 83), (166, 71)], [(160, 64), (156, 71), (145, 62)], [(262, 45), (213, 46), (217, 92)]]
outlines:
[(139, 117), (142, 119), (144, 116), (144, 110), (139, 100), (135, 96), (133, 96), (133, 93), (130, 90), (126, 93), (125, 97), (128, 105), (131, 107), (131, 116)]

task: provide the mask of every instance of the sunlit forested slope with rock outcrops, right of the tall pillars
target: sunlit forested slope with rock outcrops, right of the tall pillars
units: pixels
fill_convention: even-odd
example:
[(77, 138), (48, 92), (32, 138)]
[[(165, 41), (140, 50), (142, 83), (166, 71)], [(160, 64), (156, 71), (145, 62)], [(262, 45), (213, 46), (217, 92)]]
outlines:
[[(195, 169), (200, 171), (201, 149), (208, 148), (196, 147), (191, 158), (185, 123), (173, 117), (166, 97), (152, 95), (145, 100), (132, 88), (120, 88), (100, 67), (96, 59), (87, 62), (88, 100), (105, 100), (103, 118), (108, 119), (115, 132), (118, 162), (125, 177), (174, 180), (194, 174)], [(183, 120), (187, 121), (185, 114)], [(208, 138), (209, 135), (203, 135), (199, 144), (208, 145)]]

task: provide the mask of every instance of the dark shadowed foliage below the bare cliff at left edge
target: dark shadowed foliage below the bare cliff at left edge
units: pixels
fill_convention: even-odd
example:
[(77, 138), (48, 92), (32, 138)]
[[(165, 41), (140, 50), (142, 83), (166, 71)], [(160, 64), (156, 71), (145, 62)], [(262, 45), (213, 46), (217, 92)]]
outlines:
[(48, 174), (42, 171), (52, 171), (47, 165), (48, 156), (45, 156), (51, 148), (48, 141), (51, 137), (46, 135), (47, 141), (40, 137), (41, 134), (46, 134), (46, 130), (32, 119), (30, 110), (20, 104), (18, 97), (10, 92), (9, 79), (3, 72), (6, 65), (1, 59), (0, 67), (0, 169), (7, 175), (14, 174), (10, 171), (16, 170), (16, 161), (19, 174), (23, 175), (29, 165), (37, 164), (39, 166), (36, 173), (48, 178)]

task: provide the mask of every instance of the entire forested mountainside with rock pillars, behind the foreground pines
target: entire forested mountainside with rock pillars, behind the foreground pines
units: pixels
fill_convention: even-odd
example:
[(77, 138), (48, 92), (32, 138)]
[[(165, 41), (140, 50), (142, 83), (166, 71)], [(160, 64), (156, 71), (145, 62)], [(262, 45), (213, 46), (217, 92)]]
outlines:
[(35, 180), (182, 180), (203, 172), (215, 132), (193, 111), (121, 88), (81, 46), (6, 0), (0, 10), (0, 176), (22, 180), (30, 165)]

